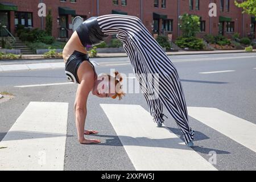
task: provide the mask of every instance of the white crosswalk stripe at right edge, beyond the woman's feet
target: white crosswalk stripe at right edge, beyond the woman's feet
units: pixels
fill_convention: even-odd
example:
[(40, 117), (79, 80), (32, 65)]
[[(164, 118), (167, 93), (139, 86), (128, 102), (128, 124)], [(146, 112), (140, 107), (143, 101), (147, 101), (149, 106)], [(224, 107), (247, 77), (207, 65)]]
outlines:
[(211, 107), (188, 107), (188, 114), (256, 152), (256, 125)]

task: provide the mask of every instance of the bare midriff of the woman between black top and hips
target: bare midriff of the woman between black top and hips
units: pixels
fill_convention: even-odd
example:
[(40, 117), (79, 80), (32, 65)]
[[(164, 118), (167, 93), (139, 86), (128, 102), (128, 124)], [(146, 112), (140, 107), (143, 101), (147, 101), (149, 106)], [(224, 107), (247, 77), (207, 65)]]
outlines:
[(68, 40), (67, 44), (63, 48), (62, 56), (64, 59), (64, 63), (67, 62), (68, 58), (72, 55), (72, 53), (74, 51), (87, 53), (84, 46), (82, 46), (82, 43), (81, 43), (76, 31), (73, 32), (71, 38)]

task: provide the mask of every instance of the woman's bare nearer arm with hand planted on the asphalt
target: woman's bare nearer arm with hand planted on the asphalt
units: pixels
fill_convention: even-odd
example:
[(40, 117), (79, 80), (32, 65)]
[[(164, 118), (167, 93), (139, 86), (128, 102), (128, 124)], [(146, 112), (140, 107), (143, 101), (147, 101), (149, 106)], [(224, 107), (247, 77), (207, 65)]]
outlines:
[(76, 94), (75, 116), (76, 116), (77, 139), (81, 144), (100, 143), (100, 140), (84, 138), (84, 134), (85, 134), (84, 127), (85, 127), (85, 119), (87, 114), (86, 103), (87, 103), (89, 92), (93, 86), (92, 81), (86, 81), (86, 80), (90, 80), (90, 78), (87, 77), (87, 79), (81, 79), (81, 83), (77, 88), (77, 94)]

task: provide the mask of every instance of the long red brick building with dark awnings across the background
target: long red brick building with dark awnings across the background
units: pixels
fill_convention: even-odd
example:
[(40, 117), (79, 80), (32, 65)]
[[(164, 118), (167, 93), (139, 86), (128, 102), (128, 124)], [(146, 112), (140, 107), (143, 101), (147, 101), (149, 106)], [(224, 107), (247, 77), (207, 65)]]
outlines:
[[(171, 34), (173, 39), (181, 35), (178, 17), (184, 13), (200, 16), (199, 37), (221, 34), (230, 38), (234, 32), (241, 36), (255, 33), (255, 19), (242, 14), (233, 0), (0, 0), (0, 23), (13, 35), (17, 24), (44, 29), (46, 18), (38, 16), (42, 2), (46, 12), (52, 10), (55, 38), (71, 36), (72, 19), (77, 15), (87, 19), (104, 14), (138, 16), (152, 34)], [(216, 17), (208, 15), (209, 3), (216, 3)]]

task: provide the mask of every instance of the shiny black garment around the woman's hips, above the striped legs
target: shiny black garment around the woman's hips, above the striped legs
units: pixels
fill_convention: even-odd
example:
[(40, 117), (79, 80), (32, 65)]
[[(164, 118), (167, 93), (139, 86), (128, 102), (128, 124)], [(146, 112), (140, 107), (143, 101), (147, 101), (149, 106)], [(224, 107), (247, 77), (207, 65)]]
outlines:
[(108, 35), (101, 31), (97, 22), (97, 16), (86, 19), (77, 29), (77, 34), (84, 47), (87, 45), (96, 46), (104, 42)]

